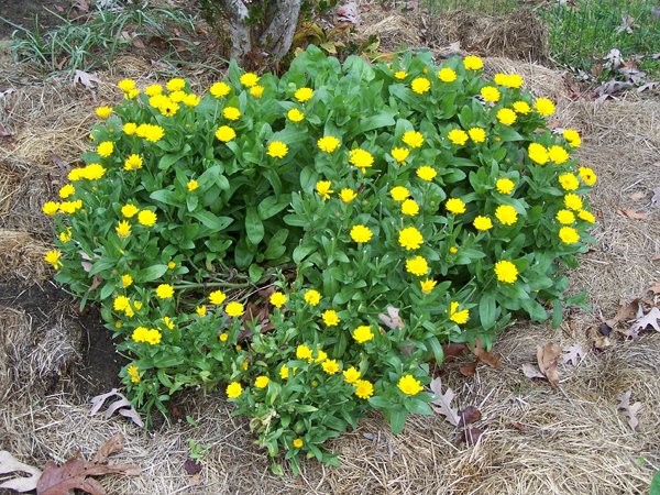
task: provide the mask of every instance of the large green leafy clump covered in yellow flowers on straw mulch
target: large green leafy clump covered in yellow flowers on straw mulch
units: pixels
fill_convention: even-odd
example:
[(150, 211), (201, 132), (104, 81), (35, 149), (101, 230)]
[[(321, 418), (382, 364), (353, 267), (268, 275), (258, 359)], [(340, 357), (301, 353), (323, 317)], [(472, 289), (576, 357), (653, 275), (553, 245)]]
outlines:
[(166, 413), (228, 384), (271, 455), (337, 462), (322, 444), (367, 410), (395, 432), (431, 413), (443, 343), (490, 346), (514, 315), (558, 323), (596, 176), (578, 132), (548, 129), (550, 100), (482, 66), (310, 46), (280, 79), (232, 65), (204, 97), (121, 81), (44, 212), (56, 279), (134, 360), (132, 400)]

